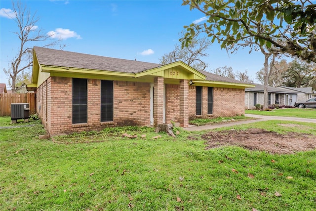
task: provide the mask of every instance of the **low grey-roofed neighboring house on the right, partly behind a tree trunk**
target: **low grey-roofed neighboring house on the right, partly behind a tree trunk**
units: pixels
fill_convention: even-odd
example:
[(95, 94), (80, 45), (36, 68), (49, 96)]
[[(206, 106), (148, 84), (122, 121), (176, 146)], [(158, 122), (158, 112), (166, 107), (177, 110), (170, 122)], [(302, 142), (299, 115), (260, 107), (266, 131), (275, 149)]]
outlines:
[[(255, 87), (245, 88), (245, 109), (252, 109), (256, 104), (264, 104), (264, 85), (253, 85), (255, 85)], [(298, 91), (294, 90), (268, 86), (268, 105), (279, 104), (294, 106), (295, 101), (297, 101), (298, 93)]]

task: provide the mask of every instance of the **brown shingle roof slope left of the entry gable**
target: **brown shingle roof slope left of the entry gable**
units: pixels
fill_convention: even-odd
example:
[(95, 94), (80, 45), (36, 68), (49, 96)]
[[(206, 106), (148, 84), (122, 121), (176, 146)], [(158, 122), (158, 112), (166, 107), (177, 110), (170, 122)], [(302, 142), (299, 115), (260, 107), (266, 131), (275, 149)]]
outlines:
[(40, 65), (105, 70), (122, 73), (139, 73), (160, 66), (160, 64), (149, 62), (95, 56), (43, 47), (34, 47), (34, 50)]

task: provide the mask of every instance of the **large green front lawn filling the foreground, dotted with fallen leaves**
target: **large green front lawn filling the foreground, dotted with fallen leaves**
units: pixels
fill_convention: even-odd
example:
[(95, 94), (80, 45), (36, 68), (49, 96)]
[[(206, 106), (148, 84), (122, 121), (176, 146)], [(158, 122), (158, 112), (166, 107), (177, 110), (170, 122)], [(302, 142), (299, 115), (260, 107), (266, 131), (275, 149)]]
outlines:
[[(35, 127), (0, 130), (0, 210), (316, 210), (316, 151), (205, 150), (202, 132), (179, 129), (176, 139), (165, 133), (153, 139), (158, 134), (147, 127), (107, 128), (52, 142), (39, 140), (45, 131), (32, 122)], [(269, 125), (276, 129), (278, 123)], [(306, 132), (316, 134), (316, 124), (309, 126)], [(121, 138), (123, 132), (139, 136)], [(86, 141), (96, 142), (79, 143)]]

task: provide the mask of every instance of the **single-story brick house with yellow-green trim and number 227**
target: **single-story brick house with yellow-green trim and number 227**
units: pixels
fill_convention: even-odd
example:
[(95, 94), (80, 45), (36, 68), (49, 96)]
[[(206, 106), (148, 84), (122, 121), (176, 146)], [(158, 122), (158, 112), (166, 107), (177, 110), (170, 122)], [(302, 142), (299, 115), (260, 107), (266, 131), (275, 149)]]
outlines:
[(167, 65), (34, 47), (37, 112), (50, 134), (115, 126), (157, 126), (244, 114), (244, 89), (233, 79)]

